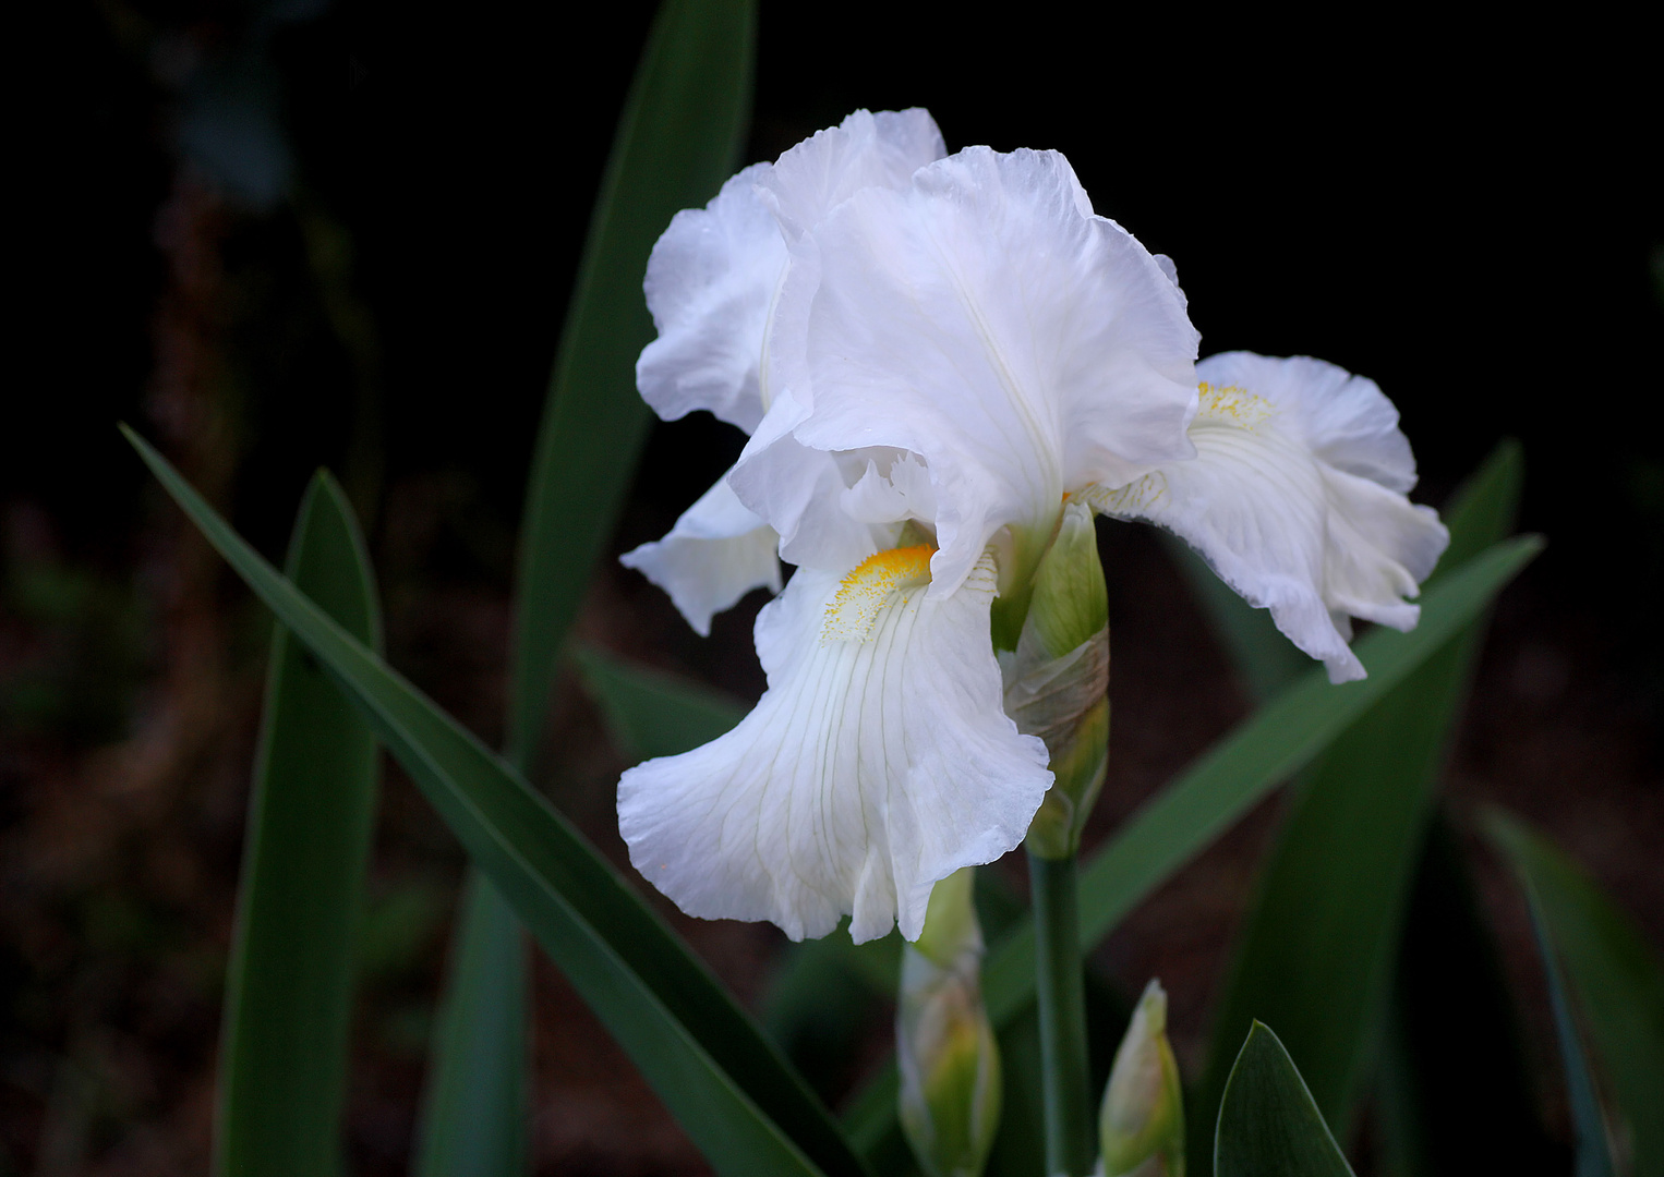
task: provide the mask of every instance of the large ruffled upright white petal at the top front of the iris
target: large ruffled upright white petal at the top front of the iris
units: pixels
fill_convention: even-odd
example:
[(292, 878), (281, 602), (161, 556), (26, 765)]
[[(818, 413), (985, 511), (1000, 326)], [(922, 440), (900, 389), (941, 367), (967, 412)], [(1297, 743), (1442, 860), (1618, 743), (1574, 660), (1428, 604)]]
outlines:
[[(1183, 299), (1092, 214), (1055, 151), (970, 148), (907, 190), (857, 191), (794, 244), (769, 351), (797, 442), (924, 459), (932, 595), (953, 592), (1002, 527), (1048, 535), (1065, 490), (1191, 452)], [(754, 469), (777, 432), (764, 422), (734, 489), (785, 537), (802, 525), (790, 504), (825, 514), (842, 500), (802, 494), (789, 467)], [(782, 555), (815, 564), (800, 544)]]

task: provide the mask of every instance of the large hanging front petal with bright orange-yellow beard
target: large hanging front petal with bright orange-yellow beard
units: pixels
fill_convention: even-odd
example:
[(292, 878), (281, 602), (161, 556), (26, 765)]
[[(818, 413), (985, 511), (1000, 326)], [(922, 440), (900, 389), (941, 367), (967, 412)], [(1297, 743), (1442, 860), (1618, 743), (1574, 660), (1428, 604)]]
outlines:
[(792, 939), (850, 913), (857, 943), (917, 939), (930, 886), (1017, 846), (1052, 783), (1000, 703), (985, 555), (945, 600), (929, 547), (847, 577), (799, 569), (757, 618), (769, 690), (712, 743), (619, 781), (631, 863), (692, 916)]

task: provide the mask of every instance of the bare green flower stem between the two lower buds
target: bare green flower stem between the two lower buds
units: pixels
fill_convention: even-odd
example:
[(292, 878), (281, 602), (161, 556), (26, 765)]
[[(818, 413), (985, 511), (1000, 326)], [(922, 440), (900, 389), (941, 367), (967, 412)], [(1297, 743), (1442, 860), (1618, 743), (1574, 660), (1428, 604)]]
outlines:
[(1092, 1169), (1093, 1115), (1075, 856), (1042, 858), (1028, 851), (1028, 884), (1035, 909), (1045, 1169), (1052, 1177), (1085, 1177)]

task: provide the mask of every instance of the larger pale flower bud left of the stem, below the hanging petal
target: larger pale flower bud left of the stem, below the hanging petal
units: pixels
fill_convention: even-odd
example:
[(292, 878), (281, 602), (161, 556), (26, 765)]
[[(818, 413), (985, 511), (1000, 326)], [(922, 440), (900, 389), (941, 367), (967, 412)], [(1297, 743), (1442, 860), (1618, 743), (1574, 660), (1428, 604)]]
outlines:
[(980, 1177), (1000, 1124), (1000, 1049), (982, 1006), (972, 871), (935, 884), (924, 934), (902, 949), (900, 1115), (927, 1177)]

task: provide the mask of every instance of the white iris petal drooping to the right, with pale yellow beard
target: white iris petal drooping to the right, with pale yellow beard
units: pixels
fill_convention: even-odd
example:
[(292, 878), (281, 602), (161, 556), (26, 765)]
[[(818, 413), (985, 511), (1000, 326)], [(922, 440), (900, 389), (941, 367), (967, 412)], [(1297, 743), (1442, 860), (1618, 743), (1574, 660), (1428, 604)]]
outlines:
[(1196, 376), (1195, 460), (1088, 502), (1176, 532), (1330, 682), (1363, 678), (1350, 617), (1413, 628), (1403, 597), (1449, 544), (1438, 514), (1404, 497), (1416, 462), (1398, 411), (1374, 381), (1306, 356), (1225, 352)]

